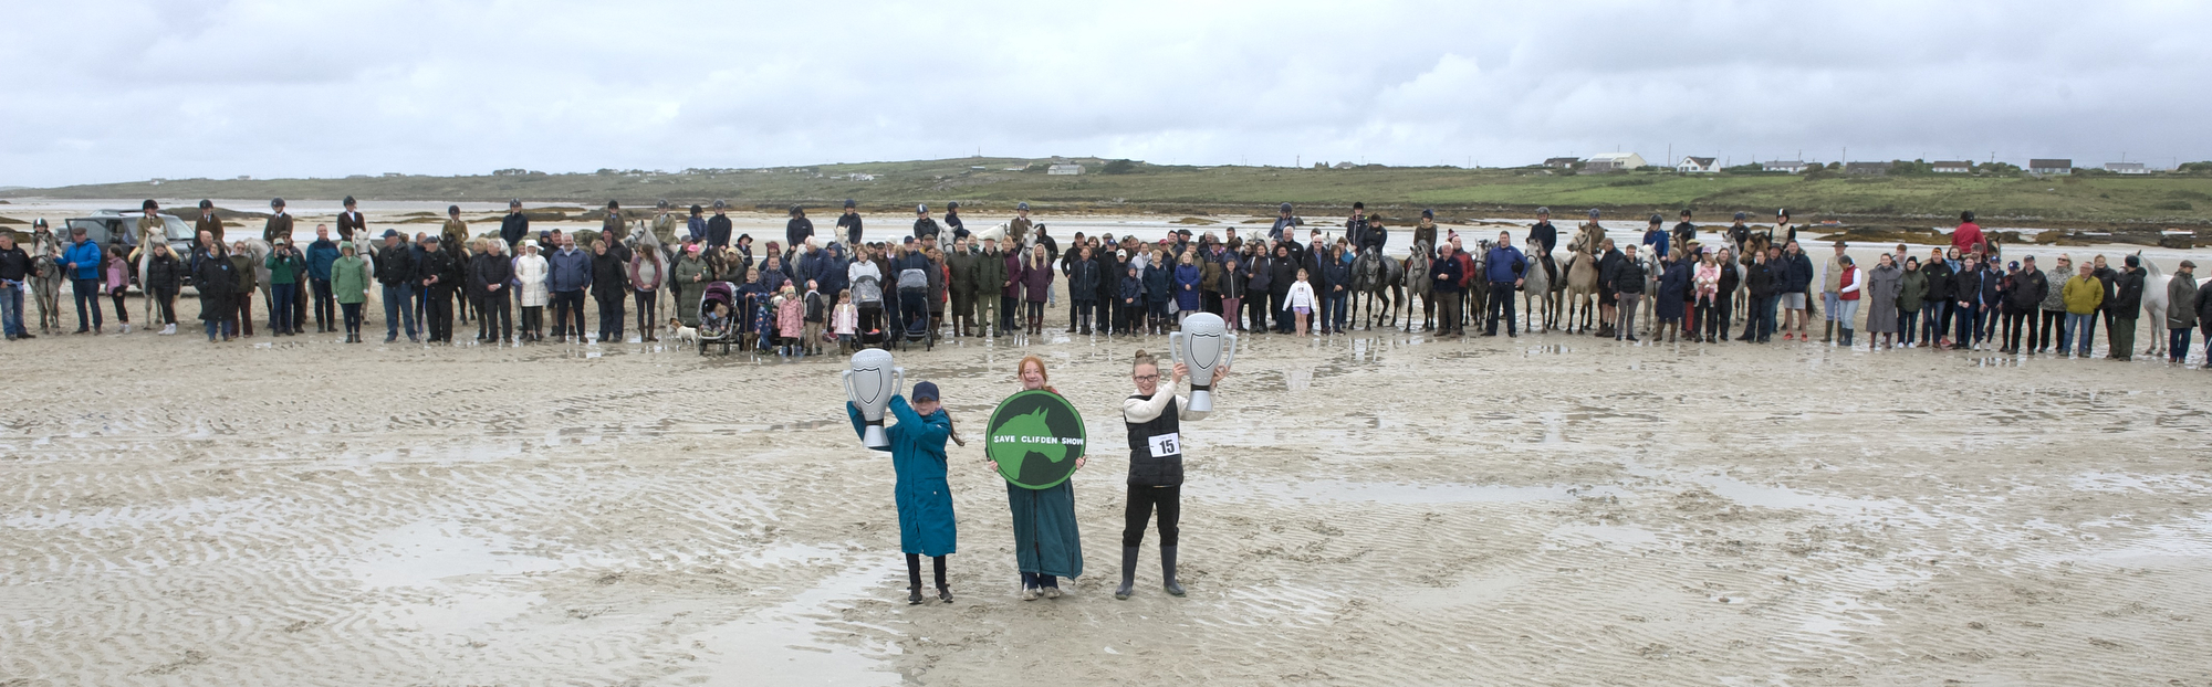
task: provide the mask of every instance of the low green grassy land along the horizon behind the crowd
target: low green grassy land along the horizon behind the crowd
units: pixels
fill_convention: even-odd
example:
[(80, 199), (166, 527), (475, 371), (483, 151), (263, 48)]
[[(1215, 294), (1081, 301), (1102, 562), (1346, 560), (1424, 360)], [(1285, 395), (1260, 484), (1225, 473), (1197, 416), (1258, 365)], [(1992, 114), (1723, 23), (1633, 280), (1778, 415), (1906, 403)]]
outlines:
[[(1009, 170), (1024, 168), (1024, 170)], [(637, 208), (653, 199), (706, 203), (730, 199), (745, 208), (812, 208), (858, 199), (872, 212), (911, 203), (962, 201), (1004, 212), (1015, 201), (1062, 212), (1161, 214), (1272, 214), (1281, 201), (1298, 214), (1340, 214), (1352, 201), (1396, 219), (1436, 208), (1442, 216), (1520, 216), (1551, 205), (1562, 216), (1604, 208), (1608, 216), (1639, 216), (1679, 208), (1719, 221), (1745, 210), (1772, 219), (1790, 208), (1801, 221), (1949, 223), (1975, 210), (1984, 223), (2024, 228), (2201, 228), (2212, 225), (2212, 177), (2205, 175), (2075, 175), (2075, 177), (1834, 177), (1834, 175), (1553, 175), (1535, 168), (1192, 168), (1130, 163), (1106, 175), (1091, 161), (1079, 177), (1044, 175), (1044, 161), (969, 157), (933, 161), (832, 163), (768, 170), (613, 172), (595, 175), (484, 175), (484, 177), (352, 177), (352, 179), (168, 179), (161, 183), (93, 183), (24, 188), (0, 197), (66, 199), (394, 199), (394, 201), (562, 201), (597, 205), (622, 199)], [(847, 175), (876, 175), (854, 181)]]

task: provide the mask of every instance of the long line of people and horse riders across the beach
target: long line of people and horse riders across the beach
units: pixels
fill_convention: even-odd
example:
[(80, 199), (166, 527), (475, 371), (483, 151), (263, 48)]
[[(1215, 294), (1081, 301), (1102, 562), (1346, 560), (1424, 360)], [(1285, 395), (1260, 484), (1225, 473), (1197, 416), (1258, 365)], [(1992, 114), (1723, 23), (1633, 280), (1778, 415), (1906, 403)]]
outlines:
[[(310, 309), (319, 334), (343, 331), (363, 340), (369, 296), (383, 303), (385, 342), (453, 342), (453, 323), (476, 323), (478, 342), (657, 342), (670, 327), (734, 331), (763, 351), (825, 353), (896, 336), (927, 323), (940, 336), (1040, 336), (1046, 314), (1066, 307), (1064, 334), (1150, 336), (1175, 329), (1197, 311), (1223, 316), (1232, 331), (1329, 336), (1345, 331), (1358, 287), (1358, 256), (1380, 256), (1389, 228), (1380, 214), (1354, 203), (1340, 232), (1305, 228), (1290, 203), (1279, 205), (1265, 234), (1241, 236), (1190, 230), (1159, 241), (1075, 232), (1062, 243), (1031, 216), (1029, 203), (989, 230), (969, 230), (960, 203), (942, 219), (916, 208), (911, 234), (900, 241), (863, 241), (863, 219), (845, 201), (836, 228), (816, 234), (805, 208), (792, 205), (781, 241), (757, 245), (737, 234), (728, 203), (690, 205), (679, 214), (668, 201), (644, 216), (606, 203), (597, 232), (531, 232), (520, 201), (509, 201), (498, 232), (471, 232), (460, 208), (447, 208), (440, 232), (374, 234), (354, 199), (332, 228), (292, 245), (292, 216), (283, 199), (270, 203), (261, 239), (228, 239), (208, 201), (199, 203), (197, 239), (188, 254), (159, 241), (159, 205), (144, 203), (139, 221), (150, 252), (97, 245), (75, 230), (62, 241), (44, 221), (33, 225), (29, 252), (0, 232), (0, 281), (9, 338), (33, 336), (24, 325), (24, 292), (35, 296), (38, 331), (66, 331), (58, 285), (75, 296), (75, 331), (102, 334), (102, 298), (115, 323), (131, 331), (126, 289), (133, 278), (146, 294), (146, 318), (175, 334), (177, 296), (190, 276), (199, 292), (199, 320), (208, 340), (254, 336), (254, 300), (270, 336), (305, 334)], [(1425, 327), (1438, 338), (1464, 336), (1471, 323), (1484, 336), (1517, 336), (1515, 303), (1535, 276), (1546, 294), (1564, 289), (1571, 265), (1595, 269), (1597, 336), (1639, 340), (1639, 334), (1692, 342), (1812, 340), (1812, 318), (1823, 320), (1820, 342), (1869, 347), (1997, 349), (2004, 353), (2088, 356), (2097, 325), (2108, 334), (2108, 356), (2135, 351), (2146, 269), (2135, 256), (2108, 265), (2106, 256), (2075, 265), (2057, 256), (2004, 261), (2002, 245), (1966, 212), (1949, 247), (1924, 258), (1905, 245), (1874, 267), (1856, 265), (1845, 243), (1823, 265), (1803, 250), (1790, 212), (1774, 225), (1752, 228), (1736, 212), (1714, 245), (1699, 241), (1690, 212), (1668, 230), (1650, 216), (1635, 245), (1615, 245), (1590, 210), (1562, 254), (1562, 232), (1548, 208), (1528, 225), (1528, 252), (1511, 234), (1475, 241), (1420, 212), (1411, 225), (1413, 256), (1391, 267), (1413, 269), (1400, 298), (1418, 298)], [(1298, 241), (1305, 230), (1305, 241)], [(1542, 269), (1542, 274), (1531, 274)], [(1416, 283), (1418, 281), (1418, 283)], [(708, 287), (728, 283), (730, 303), (703, 303)], [(40, 289), (46, 285), (46, 289)], [(894, 298), (889, 294), (922, 294)], [(2166, 283), (2172, 360), (2188, 360), (2192, 331), (2212, 340), (2212, 283), (2199, 287), (2194, 263)], [(259, 294), (259, 298), (254, 298)], [(1418, 296), (1416, 296), (1418, 294)], [(595, 309), (586, 311), (586, 296)], [(672, 314), (664, 318), (664, 298)], [(706, 305), (706, 307), (701, 307)], [(546, 314), (551, 309), (551, 325)], [(595, 331), (586, 314), (597, 316)], [(1650, 320), (1637, 323), (1646, 314)], [(1411, 316), (1411, 309), (1407, 309)], [(635, 318), (635, 320), (630, 320)], [(1557, 325), (1557, 311), (1546, 323)], [(1573, 323), (1568, 323), (1573, 325)], [(1413, 329), (1413, 327), (1407, 327)]]

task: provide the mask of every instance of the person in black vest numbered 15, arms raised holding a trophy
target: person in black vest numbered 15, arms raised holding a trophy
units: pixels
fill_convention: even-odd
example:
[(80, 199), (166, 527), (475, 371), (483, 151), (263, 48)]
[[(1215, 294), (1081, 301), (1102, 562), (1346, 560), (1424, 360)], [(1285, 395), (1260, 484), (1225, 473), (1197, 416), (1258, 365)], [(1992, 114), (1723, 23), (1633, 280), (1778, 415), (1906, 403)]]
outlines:
[[(1183, 596), (1183, 585), (1175, 583), (1177, 521), (1183, 510), (1183, 437), (1181, 420), (1203, 420), (1208, 411), (1190, 409), (1190, 398), (1175, 393), (1190, 376), (1181, 362), (1168, 389), (1159, 389), (1159, 360), (1137, 351), (1130, 380), (1137, 393), (1121, 402), (1121, 422), (1128, 424), (1128, 510), (1121, 528), (1121, 588), (1113, 599), (1128, 599), (1137, 581), (1137, 548), (1144, 546), (1144, 526), (1159, 508), (1159, 577), (1168, 594)], [(1212, 367), (1210, 387), (1221, 387), (1230, 376), (1228, 364)]]

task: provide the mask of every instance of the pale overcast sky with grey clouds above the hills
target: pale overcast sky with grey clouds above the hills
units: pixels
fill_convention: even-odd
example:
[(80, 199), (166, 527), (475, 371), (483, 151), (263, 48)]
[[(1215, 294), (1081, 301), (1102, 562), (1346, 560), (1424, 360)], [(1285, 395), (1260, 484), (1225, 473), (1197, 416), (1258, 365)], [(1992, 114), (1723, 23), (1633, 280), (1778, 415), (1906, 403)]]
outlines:
[(2212, 2), (9, 2), (0, 186), (2212, 159)]

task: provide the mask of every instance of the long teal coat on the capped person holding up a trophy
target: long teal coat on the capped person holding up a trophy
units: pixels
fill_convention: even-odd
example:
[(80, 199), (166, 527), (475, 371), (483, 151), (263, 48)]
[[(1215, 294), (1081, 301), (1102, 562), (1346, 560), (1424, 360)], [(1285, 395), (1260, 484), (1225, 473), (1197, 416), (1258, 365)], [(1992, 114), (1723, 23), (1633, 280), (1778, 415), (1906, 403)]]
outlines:
[[(867, 435), (860, 409), (845, 402), (852, 431)], [(956, 550), (960, 539), (953, 526), (953, 493), (945, 484), (945, 440), (951, 437), (953, 422), (945, 411), (922, 418), (907, 404), (905, 395), (891, 395), (889, 415), (898, 424), (883, 431), (891, 437), (891, 471), (898, 486), (891, 495), (898, 501), (898, 550), (909, 554), (942, 557)]]

